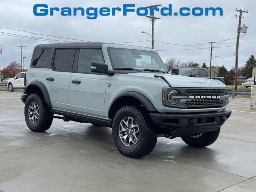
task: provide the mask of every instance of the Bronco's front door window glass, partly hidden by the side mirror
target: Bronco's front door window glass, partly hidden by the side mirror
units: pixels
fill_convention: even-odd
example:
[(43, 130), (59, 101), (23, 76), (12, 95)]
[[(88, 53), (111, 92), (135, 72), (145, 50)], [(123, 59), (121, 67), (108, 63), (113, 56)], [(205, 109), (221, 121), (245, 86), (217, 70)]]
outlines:
[(90, 73), (93, 61), (104, 62), (102, 50), (80, 49), (78, 57), (77, 72)]

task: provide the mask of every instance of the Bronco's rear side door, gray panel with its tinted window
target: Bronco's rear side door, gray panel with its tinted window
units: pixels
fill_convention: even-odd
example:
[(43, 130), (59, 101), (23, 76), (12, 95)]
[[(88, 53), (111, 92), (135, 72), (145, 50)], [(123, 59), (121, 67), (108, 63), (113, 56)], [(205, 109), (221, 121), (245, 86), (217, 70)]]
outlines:
[(55, 109), (68, 110), (69, 84), (74, 55), (75, 49), (56, 49), (52, 68), (46, 74), (44, 84), (52, 107)]

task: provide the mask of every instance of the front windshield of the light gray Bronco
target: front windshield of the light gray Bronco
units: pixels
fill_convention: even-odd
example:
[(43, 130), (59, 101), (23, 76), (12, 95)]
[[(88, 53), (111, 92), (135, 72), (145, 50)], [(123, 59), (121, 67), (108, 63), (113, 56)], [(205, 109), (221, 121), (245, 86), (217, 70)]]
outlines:
[(156, 52), (107, 48), (112, 68), (134, 68), (138, 70), (153, 69), (167, 72), (167, 69)]

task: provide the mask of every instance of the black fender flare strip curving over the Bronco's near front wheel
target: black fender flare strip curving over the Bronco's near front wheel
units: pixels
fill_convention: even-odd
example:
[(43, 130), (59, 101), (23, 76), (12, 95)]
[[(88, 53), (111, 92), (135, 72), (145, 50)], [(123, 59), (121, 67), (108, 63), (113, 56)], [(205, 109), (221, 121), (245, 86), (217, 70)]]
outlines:
[(146, 107), (146, 109), (147, 109), (148, 111), (157, 112), (155, 106), (152, 104), (152, 102), (151, 102), (146, 96), (144, 96), (143, 94), (141, 94), (141, 93), (139, 93), (139, 92), (127, 91), (127, 92), (124, 92), (124, 93), (118, 95), (118, 96), (112, 101), (112, 103), (110, 104), (110, 107), (109, 107), (109, 109), (108, 109), (108, 116), (109, 116), (109, 117), (110, 117), (110, 110), (111, 110), (111, 108), (112, 108), (114, 102), (115, 102), (118, 98), (120, 98), (120, 97), (122, 97), (122, 96), (132, 96), (132, 97), (134, 97), (134, 98), (140, 100), (140, 102), (142, 102), (142, 104), (144, 104), (144, 106)]

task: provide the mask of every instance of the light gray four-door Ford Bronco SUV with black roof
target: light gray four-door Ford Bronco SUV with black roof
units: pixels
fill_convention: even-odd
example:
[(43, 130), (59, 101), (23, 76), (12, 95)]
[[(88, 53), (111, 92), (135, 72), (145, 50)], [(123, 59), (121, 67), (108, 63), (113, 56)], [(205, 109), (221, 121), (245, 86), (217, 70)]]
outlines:
[(40, 44), (34, 48), (21, 96), (35, 132), (53, 118), (112, 128), (121, 154), (149, 154), (158, 136), (205, 147), (230, 117), (227, 86), (168, 73), (160, 56), (138, 46), (101, 42)]

